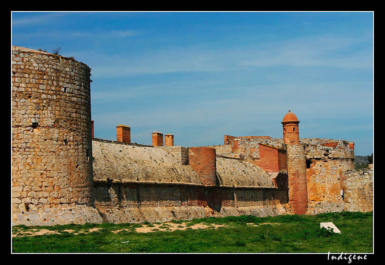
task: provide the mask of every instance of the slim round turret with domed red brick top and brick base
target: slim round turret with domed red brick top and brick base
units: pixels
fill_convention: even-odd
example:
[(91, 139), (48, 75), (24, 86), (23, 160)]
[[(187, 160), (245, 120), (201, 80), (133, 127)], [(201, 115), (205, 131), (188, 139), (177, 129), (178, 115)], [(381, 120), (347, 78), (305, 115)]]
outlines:
[(283, 140), (286, 144), (289, 204), (295, 214), (307, 211), (307, 184), (305, 148), (299, 143), (299, 121), (289, 112), (282, 121)]

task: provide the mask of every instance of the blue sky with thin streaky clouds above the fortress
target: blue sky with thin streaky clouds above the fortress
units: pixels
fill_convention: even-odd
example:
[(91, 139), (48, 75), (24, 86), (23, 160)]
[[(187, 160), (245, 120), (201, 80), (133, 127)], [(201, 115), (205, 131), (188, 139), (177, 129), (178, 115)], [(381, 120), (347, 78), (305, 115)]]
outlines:
[(12, 45), (92, 68), (96, 138), (282, 138), (291, 109), (300, 138), (373, 152), (371, 12), (13, 12)]

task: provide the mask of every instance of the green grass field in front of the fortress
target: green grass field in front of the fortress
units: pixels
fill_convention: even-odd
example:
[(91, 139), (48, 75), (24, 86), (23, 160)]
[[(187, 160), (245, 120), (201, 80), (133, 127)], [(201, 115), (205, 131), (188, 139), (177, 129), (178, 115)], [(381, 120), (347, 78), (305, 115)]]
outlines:
[[(281, 215), (274, 217), (228, 216), (174, 221), (189, 226), (225, 224), (217, 229), (186, 229), (137, 233), (135, 228), (153, 224), (102, 223), (85, 225), (25, 226), (13, 227), (13, 233), (23, 235), (32, 229), (48, 229), (59, 234), (16, 237), (12, 239), (13, 253), (371, 253), (373, 251), (372, 212), (325, 213), (313, 216)], [(340, 234), (320, 229), (320, 222), (333, 222)], [(255, 225), (250, 225), (257, 224)], [(169, 225), (163, 224), (167, 229)], [(162, 229), (162, 226), (160, 229)], [(88, 232), (91, 228), (101, 228)], [(85, 232), (78, 235), (64, 230)], [(119, 233), (112, 233), (126, 229)], [(164, 230), (162, 229), (162, 230)]]

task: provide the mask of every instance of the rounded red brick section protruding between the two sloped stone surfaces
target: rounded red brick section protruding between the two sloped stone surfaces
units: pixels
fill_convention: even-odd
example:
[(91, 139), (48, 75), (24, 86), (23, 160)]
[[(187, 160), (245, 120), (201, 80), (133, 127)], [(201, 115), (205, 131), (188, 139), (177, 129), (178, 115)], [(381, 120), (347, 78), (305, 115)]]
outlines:
[(210, 147), (190, 147), (188, 163), (198, 173), (202, 184), (214, 186), (216, 178), (215, 149)]

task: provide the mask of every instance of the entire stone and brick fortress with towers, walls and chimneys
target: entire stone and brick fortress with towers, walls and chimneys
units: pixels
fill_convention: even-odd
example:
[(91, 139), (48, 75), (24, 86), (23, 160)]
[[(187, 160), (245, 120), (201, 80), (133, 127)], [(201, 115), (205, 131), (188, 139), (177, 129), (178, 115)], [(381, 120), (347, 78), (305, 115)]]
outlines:
[(291, 111), (282, 139), (224, 135), (223, 145), (183, 147), (153, 132), (142, 145), (126, 125), (116, 141), (96, 139), (90, 72), (12, 47), (13, 225), (373, 210), (373, 171), (354, 170), (354, 143), (300, 139)]

